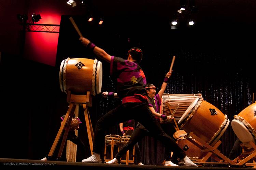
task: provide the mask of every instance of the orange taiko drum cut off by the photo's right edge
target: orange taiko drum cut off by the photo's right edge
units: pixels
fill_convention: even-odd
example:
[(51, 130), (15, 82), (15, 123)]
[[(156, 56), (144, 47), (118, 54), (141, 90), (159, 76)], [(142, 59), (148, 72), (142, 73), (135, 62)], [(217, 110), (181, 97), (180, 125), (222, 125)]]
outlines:
[(246, 107), (238, 115), (234, 115), (231, 126), (241, 142), (256, 143), (256, 103)]

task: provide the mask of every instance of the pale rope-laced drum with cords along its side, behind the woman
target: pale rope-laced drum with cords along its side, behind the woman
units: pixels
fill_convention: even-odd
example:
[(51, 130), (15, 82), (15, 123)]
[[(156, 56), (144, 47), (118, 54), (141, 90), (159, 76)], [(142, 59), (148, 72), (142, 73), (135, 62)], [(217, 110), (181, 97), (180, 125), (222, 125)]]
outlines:
[[(174, 114), (174, 118), (176, 120), (179, 120), (182, 117), (182, 115), (185, 113), (187, 108), (190, 106), (190, 104), (194, 102), (196, 97), (202, 98), (202, 94), (166, 94), (164, 93), (161, 99), (160, 113), (167, 116), (171, 115), (171, 112), (167, 103), (169, 103), (169, 106), (172, 112), (174, 111), (176, 106), (179, 104), (180, 106), (177, 108)], [(161, 123), (172, 123), (172, 122), (169, 122), (168, 120), (161, 120)]]

